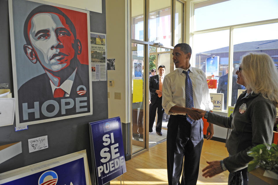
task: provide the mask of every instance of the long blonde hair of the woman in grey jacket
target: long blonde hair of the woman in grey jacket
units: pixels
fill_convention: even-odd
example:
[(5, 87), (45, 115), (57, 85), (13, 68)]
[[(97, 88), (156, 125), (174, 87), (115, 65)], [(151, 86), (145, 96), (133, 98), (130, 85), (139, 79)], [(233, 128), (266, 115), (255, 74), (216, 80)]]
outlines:
[(278, 70), (272, 58), (266, 53), (249, 53), (242, 58), (241, 67), (246, 89), (261, 93), (277, 106)]

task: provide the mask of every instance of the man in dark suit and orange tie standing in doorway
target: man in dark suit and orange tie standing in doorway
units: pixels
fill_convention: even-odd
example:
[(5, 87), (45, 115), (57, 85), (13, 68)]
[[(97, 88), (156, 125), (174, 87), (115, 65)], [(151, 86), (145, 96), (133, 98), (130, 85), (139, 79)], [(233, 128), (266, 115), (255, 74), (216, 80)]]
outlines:
[(149, 78), (149, 88), (151, 93), (151, 104), (149, 106), (149, 132), (153, 131), (153, 123), (156, 118), (157, 109), (157, 123), (156, 123), (156, 133), (162, 135), (162, 116), (164, 109), (162, 108), (162, 84), (164, 79), (165, 66), (160, 65), (158, 67), (158, 74), (151, 76)]

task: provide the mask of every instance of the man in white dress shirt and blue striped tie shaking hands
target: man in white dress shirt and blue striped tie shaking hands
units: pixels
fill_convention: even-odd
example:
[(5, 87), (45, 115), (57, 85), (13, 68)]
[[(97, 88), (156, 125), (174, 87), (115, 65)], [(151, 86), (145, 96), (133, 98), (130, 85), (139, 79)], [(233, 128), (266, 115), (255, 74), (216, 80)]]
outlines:
[[(188, 44), (180, 43), (175, 45), (173, 62), (178, 69), (165, 76), (162, 86), (162, 107), (170, 115), (167, 125), (167, 173), (169, 185), (195, 185), (197, 183), (204, 141), (204, 123), (201, 119), (202, 116), (193, 111), (191, 107), (198, 107), (208, 111), (213, 109), (206, 76), (201, 69), (190, 65), (191, 53), (191, 47)], [(188, 87), (191, 88), (190, 93), (188, 93)], [(191, 107), (186, 106), (186, 98), (191, 98)], [(188, 99), (187, 101), (189, 102)], [(212, 136), (213, 124), (209, 124), (206, 138), (211, 139)], [(182, 164), (183, 159), (184, 163)], [(182, 166), (184, 170), (180, 183)]]

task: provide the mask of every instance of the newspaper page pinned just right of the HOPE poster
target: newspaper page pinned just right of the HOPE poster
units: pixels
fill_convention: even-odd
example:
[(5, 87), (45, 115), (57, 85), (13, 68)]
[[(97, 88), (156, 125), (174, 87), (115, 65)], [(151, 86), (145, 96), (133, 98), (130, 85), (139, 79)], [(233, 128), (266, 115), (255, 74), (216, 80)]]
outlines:
[(106, 79), (106, 35), (100, 33), (90, 34), (91, 38), (91, 67), (92, 81), (105, 81)]

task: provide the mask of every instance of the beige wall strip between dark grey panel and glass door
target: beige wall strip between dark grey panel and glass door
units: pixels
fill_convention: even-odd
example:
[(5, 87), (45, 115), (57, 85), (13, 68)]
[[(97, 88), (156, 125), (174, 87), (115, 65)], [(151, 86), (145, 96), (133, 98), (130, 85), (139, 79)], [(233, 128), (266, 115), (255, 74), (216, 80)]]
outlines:
[[(114, 87), (108, 87), (108, 117), (128, 123), (127, 1), (106, 1), (106, 34), (107, 59), (115, 58), (115, 70), (107, 70), (107, 81), (114, 80)], [(114, 99), (115, 92), (121, 100)]]

